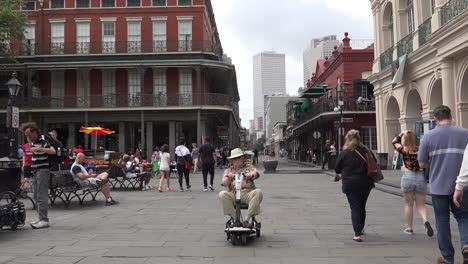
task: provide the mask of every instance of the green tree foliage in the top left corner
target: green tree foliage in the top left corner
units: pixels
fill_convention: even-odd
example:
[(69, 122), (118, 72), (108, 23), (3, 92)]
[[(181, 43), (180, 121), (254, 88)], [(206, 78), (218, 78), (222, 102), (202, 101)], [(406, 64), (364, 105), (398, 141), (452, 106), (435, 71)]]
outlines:
[(24, 39), (24, 28), (28, 24), (28, 15), (18, 7), (23, 0), (0, 0), (0, 57), (14, 59), (15, 51), (10, 49), (11, 39)]

